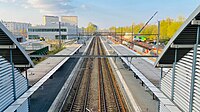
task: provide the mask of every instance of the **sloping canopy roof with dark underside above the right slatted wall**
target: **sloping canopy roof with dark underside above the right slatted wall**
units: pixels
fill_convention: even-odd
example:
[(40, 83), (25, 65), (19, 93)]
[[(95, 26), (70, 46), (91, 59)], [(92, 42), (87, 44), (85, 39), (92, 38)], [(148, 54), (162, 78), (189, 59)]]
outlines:
[(177, 49), (177, 61), (193, 49), (196, 44), (198, 27), (198, 25), (192, 24), (193, 20), (200, 20), (200, 6), (186, 19), (168, 42), (158, 57), (155, 67), (171, 67), (174, 62), (175, 49)]

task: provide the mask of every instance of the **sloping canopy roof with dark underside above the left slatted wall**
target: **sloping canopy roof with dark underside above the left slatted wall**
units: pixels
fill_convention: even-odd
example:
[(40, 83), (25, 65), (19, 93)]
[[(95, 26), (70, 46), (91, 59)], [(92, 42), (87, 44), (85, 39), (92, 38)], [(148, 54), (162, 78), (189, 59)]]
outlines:
[(6, 60), (10, 61), (10, 49), (12, 49), (15, 67), (34, 66), (24, 48), (19, 44), (13, 34), (0, 22), (0, 56), (3, 56)]

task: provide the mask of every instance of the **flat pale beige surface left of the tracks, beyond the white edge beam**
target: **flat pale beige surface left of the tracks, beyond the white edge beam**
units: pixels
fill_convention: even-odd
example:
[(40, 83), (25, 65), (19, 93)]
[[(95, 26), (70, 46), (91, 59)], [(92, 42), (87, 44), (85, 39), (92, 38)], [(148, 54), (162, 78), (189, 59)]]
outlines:
[[(72, 44), (67, 45), (66, 48), (55, 55), (73, 55), (82, 45)], [(69, 57), (67, 57), (68, 59)], [(50, 72), (55, 66), (62, 62), (66, 57), (49, 57), (41, 63), (35, 65), (34, 68), (27, 70), (29, 85), (32, 86), (38, 82), (43, 76)]]

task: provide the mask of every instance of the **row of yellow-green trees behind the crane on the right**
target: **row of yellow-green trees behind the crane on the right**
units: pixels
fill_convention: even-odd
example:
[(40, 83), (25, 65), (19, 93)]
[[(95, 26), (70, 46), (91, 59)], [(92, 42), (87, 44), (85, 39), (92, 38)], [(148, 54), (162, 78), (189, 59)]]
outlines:
[[(180, 28), (180, 26), (185, 21), (185, 18), (182, 16), (179, 16), (176, 19), (172, 18), (166, 18), (164, 20), (160, 21), (160, 40), (162, 42), (168, 41), (174, 33)], [(144, 23), (135, 24), (133, 23), (131, 26), (126, 27), (111, 27), (109, 28), (110, 31), (116, 31), (116, 32), (123, 32), (125, 33), (131, 33), (132, 31), (135, 34), (138, 34), (139, 30), (144, 26)], [(157, 34), (158, 33), (158, 26), (157, 24), (149, 24), (145, 27), (145, 29), (141, 32), (142, 34)], [(146, 36), (148, 41), (156, 40), (157, 36), (150, 35)]]

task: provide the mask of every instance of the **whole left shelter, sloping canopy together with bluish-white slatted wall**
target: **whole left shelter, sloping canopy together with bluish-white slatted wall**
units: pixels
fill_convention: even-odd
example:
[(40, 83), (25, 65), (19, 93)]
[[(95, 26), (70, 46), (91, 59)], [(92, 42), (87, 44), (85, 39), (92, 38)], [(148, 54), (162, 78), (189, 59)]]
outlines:
[[(28, 89), (28, 80), (14, 67), (34, 64), (13, 34), (0, 22), (0, 111), (4, 111)], [(18, 112), (28, 112), (28, 101)]]

